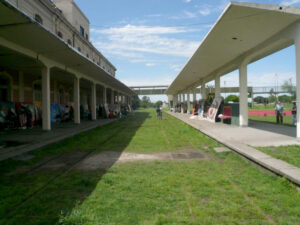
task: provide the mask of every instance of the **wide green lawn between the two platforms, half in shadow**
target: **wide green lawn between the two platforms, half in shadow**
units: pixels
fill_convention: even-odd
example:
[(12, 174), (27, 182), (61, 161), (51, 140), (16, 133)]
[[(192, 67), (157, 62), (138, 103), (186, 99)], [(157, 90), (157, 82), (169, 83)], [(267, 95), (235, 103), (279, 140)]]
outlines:
[[(299, 224), (296, 187), (235, 153), (215, 153), (217, 142), (154, 109), (36, 151), (29, 162), (0, 162), (0, 224)], [(60, 170), (26, 173), (62, 153), (103, 150), (143, 154), (194, 149), (194, 161), (115, 164), (72, 170), (35, 198), (16, 206)]]

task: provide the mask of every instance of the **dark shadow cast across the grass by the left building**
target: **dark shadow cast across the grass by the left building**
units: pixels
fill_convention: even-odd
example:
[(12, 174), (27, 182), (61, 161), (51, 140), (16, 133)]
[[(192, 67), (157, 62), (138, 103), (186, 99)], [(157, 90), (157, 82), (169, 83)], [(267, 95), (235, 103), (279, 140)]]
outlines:
[[(93, 192), (148, 117), (147, 112), (135, 112), (102, 128), (61, 141), (47, 147), (47, 151), (51, 148), (57, 151), (55, 148), (60, 146), (66, 150), (68, 145), (72, 150), (45, 155), (32, 165), (12, 159), (0, 162), (0, 224), (59, 223), (61, 216)], [(124, 132), (126, 136), (120, 140), (118, 135)], [(117, 142), (118, 149), (113, 160), (93, 170), (80, 169), (84, 159), (114, 142)], [(74, 146), (74, 143), (78, 144)], [(86, 150), (86, 146), (90, 151)]]

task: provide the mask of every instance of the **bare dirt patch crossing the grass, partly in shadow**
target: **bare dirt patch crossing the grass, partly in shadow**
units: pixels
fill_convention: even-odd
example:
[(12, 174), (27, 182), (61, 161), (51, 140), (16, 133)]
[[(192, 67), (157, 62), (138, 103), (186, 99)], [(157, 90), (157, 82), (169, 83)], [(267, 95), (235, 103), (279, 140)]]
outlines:
[(115, 163), (126, 163), (135, 161), (186, 161), (203, 160), (207, 158), (208, 157), (206, 156), (206, 154), (200, 151), (184, 151), (176, 153), (166, 152), (155, 154), (137, 154), (129, 152), (104, 151), (101, 153), (93, 154), (90, 157), (86, 158), (77, 166), (77, 169), (107, 169)]

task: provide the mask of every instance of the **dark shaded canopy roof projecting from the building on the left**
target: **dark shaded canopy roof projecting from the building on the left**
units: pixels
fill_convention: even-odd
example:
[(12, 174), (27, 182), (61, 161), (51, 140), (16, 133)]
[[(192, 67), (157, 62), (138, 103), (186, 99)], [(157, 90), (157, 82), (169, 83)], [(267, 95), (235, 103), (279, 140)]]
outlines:
[[(117, 91), (135, 95), (129, 87), (109, 75), (91, 59), (5, 0), (0, 0), (0, 37), (35, 52), (37, 58), (39, 55), (45, 56), (64, 65), (66, 69), (78, 71)], [(7, 54), (0, 54), (0, 61), (4, 65), (12, 63)], [(31, 68), (36, 70), (33, 66)]]

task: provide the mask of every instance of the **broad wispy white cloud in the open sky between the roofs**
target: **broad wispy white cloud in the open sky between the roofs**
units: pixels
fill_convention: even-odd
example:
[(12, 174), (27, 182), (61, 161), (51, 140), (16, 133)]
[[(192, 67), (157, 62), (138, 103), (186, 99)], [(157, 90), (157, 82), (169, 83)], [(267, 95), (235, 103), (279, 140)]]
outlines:
[(192, 32), (180, 27), (133, 26), (92, 29), (94, 44), (106, 54), (139, 59), (142, 53), (190, 57), (199, 42), (165, 37), (169, 34)]

